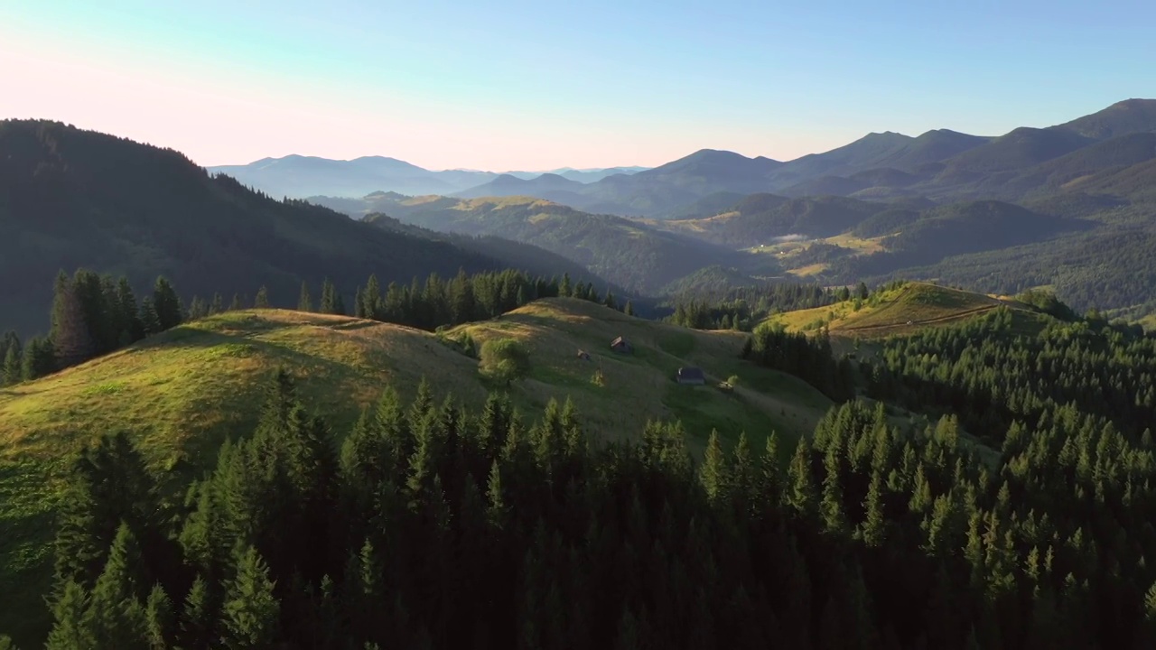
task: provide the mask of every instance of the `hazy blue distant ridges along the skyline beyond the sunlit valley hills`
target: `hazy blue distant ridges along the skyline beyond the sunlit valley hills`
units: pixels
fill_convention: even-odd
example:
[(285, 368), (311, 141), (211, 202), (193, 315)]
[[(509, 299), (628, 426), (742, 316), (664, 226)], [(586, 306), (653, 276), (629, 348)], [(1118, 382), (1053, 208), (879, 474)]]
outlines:
[[(1101, 162), (1090, 169), (1101, 171), (1106, 164), (1103, 161), (1117, 153), (1121, 160), (1113, 164), (1149, 160), (1143, 136), (1153, 132), (1156, 99), (1127, 99), (1065, 124), (1022, 126), (999, 136), (947, 128), (918, 136), (870, 133), (830, 152), (787, 162), (702, 149), (653, 169), (592, 172), (427, 172), (392, 158), (323, 163), (319, 158), (290, 161), (292, 156), (213, 170), (234, 175), (259, 190), (292, 186), (292, 195), (362, 197), (370, 191), (357, 189), (388, 176), (388, 186), (383, 180), (383, 186), (372, 191), (458, 198), (531, 195), (593, 213), (676, 219), (701, 215), (702, 206), (696, 207), (701, 201), (718, 208), (710, 198), (720, 194), (833, 194), (884, 201), (910, 197), (934, 201), (991, 197), (1018, 200), (1054, 186), (1058, 176), (1046, 168), (1032, 169), (1036, 165), (1070, 156), (1057, 164), (1073, 168), (1085, 164), (1081, 160), (1098, 157)], [(390, 161), (388, 171), (372, 172), (377, 176), (363, 171), (375, 165), (385, 169), (384, 162), (375, 161)], [(358, 171), (343, 172), (342, 165)], [(323, 185), (325, 191), (319, 190)]]

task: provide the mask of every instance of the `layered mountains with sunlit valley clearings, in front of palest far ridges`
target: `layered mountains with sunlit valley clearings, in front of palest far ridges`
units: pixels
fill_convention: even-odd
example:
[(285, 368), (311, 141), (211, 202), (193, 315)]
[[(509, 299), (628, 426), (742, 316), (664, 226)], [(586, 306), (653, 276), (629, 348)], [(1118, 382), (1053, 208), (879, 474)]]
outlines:
[(310, 200), (544, 248), (649, 294), (697, 267), (743, 281), (1048, 286), (1079, 309), (1156, 310), (1151, 99), (1000, 136), (874, 133), (791, 162), (703, 149), (590, 184), (503, 176), (452, 197)]

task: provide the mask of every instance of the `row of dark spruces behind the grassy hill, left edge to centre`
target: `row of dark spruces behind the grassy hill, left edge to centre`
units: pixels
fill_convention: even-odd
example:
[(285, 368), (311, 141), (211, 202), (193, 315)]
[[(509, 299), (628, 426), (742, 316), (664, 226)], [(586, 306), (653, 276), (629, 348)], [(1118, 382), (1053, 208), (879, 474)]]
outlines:
[[(433, 331), (442, 326), (483, 320), (543, 297), (570, 296), (633, 313), (629, 301), (620, 305), (609, 289), (599, 294), (591, 282), (534, 278), (520, 271), (482, 272), (467, 275), (459, 271), (450, 280), (437, 273), (424, 281), (414, 278), (409, 286), (391, 282), (381, 293), (377, 276), (354, 293), (354, 316)], [(47, 335), (22, 342), (15, 332), (0, 338), (0, 385), (36, 379), (51, 372), (109, 354), (141, 339), (224, 311), (269, 309), (266, 287), (253, 300), (235, 294), (225, 304), (221, 294), (206, 301), (193, 296), (187, 306), (168, 279), (157, 278), (153, 291), (138, 302), (126, 278), (98, 275), (87, 268), (72, 276), (64, 271), (53, 287), (51, 330)], [(288, 305), (287, 305), (288, 306)], [(301, 311), (347, 315), (341, 290), (328, 279), (321, 283), (319, 298), (311, 297), (303, 282), (297, 302)]]

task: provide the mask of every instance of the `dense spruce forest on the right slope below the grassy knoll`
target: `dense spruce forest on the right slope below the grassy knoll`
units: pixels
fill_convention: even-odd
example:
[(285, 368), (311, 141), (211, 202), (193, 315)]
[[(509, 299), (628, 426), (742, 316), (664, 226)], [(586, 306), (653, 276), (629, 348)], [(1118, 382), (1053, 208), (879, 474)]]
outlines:
[(1138, 326), (1085, 318), (1025, 335), (1000, 308), (881, 346), (860, 364), (868, 394), (956, 413), (969, 429), (998, 435), (1068, 404), (1138, 436), (1156, 422), (1156, 338)]

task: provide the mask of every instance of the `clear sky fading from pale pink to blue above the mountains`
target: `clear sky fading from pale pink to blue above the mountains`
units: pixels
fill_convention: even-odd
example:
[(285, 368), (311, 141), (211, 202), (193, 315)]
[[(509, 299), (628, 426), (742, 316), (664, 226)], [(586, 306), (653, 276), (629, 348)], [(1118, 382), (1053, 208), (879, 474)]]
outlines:
[(0, 119), (202, 165), (791, 160), (1156, 97), (1150, 0), (0, 0)]

